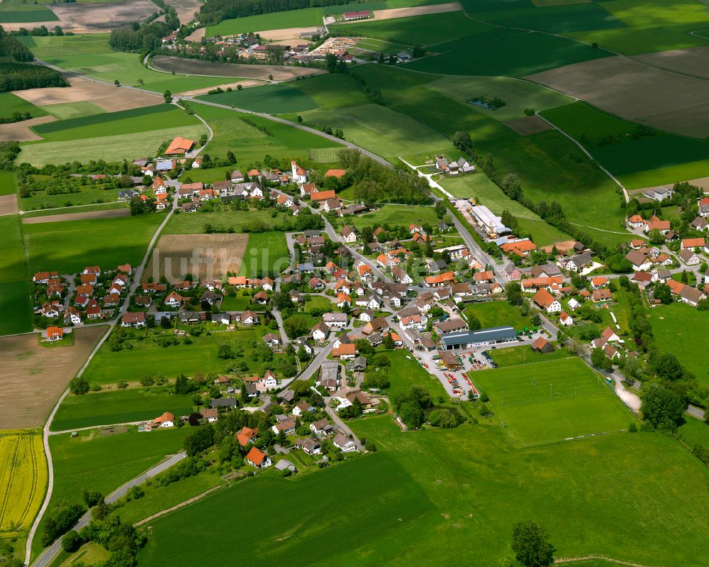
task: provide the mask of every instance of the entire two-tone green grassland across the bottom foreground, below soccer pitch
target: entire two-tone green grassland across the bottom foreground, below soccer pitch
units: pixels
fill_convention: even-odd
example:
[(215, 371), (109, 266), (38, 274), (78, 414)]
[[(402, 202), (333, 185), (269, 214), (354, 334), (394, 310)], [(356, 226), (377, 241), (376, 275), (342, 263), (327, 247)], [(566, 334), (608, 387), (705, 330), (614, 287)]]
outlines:
[[(496, 565), (512, 554), (513, 524), (532, 518), (549, 529), (557, 557), (698, 566), (709, 524), (693, 502), (709, 497), (709, 472), (667, 436), (619, 433), (511, 449), (496, 424), (402, 433), (384, 415), (350, 426), (379, 451), (301, 478), (279, 479), (268, 471), (155, 519), (139, 561), (160, 566), (177, 557), (229, 556), (239, 562), (257, 553), (264, 566), (347, 567), (362, 565), (363, 558), (392, 566)], [(683, 483), (676, 482), (680, 477)], [(343, 510), (335, 505), (335, 487), (352, 482), (366, 486), (367, 497)], [(277, 505), (267, 494), (274, 492), (291, 505), (272, 509)], [(263, 512), (258, 527), (247, 521), (254, 507)], [(194, 522), (204, 529), (188, 529)], [(248, 545), (221, 536), (234, 525)], [(638, 532), (637, 525), (645, 528)], [(320, 545), (328, 529), (345, 544)], [(460, 545), (462, 537), (467, 545)]]

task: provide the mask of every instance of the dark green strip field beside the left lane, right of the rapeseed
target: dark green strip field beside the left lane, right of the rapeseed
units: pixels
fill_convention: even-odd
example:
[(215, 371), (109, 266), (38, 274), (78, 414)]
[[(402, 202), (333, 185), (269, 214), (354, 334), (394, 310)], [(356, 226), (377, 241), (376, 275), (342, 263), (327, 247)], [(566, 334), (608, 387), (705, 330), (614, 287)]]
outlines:
[(69, 395), (62, 401), (59, 411), (52, 419), (52, 431), (148, 421), (164, 412), (176, 416), (187, 415), (192, 408), (191, 395), (154, 392), (149, 388), (91, 392), (83, 396)]

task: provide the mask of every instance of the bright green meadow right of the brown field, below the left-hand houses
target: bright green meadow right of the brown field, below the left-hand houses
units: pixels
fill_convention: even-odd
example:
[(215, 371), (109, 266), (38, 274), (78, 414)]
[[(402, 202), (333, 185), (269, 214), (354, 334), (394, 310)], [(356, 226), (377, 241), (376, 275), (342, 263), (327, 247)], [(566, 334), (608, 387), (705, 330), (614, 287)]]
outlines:
[[(136, 336), (147, 336), (148, 331), (135, 331)], [(272, 364), (255, 360), (250, 343), (261, 341), (264, 332), (261, 328), (239, 329), (238, 331), (214, 333), (211, 336), (194, 336), (189, 345), (178, 344), (162, 347), (150, 339), (128, 339), (133, 348), (113, 352), (107, 343), (99, 351), (84, 372), (84, 378), (98, 384), (115, 384), (121, 380), (140, 380), (144, 375), (157, 376), (162, 373), (167, 378), (179, 374), (194, 376), (196, 373), (223, 372), (228, 360), (218, 358), (221, 344), (240, 346), (244, 351), (243, 360), (250, 375), (262, 376)]]

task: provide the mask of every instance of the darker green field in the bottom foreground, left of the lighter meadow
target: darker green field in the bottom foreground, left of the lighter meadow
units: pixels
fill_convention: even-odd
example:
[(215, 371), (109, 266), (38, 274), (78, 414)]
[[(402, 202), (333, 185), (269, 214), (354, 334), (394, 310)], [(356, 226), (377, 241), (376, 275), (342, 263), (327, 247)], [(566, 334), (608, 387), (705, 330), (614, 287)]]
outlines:
[[(352, 483), (365, 485), (367, 498), (354, 508), (333, 507), (332, 497), (338, 487)], [(314, 497), (316, 492), (320, 497)], [(274, 493), (285, 500), (269, 497)], [(284, 507), (284, 501), (289, 506)], [(247, 510), (254, 507), (263, 512), (264, 521), (259, 524), (245, 521)], [(215, 509), (223, 512), (207, 512)], [(362, 541), (406, 532), (431, 512), (430, 500), (411, 475), (389, 456), (377, 454), (293, 480), (266, 474), (220, 490), (184, 510), (149, 522), (152, 536), (139, 561), (156, 567), (172, 564), (177, 557), (180, 561), (213, 562), (228, 553), (230, 561), (235, 562), (249, 561), (258, 554), (262, 565), (283, 561), (296, 565), (335, 561), (342, 565), (347, 563), (340, 563), (339, 556), (346, 550), (361, 546)], [(203, 527), (199, 534), (189, 527), (196, 518)], [(221, 534), (235, 524), (240, 525), (240, 536), (250, 543), (230, 546), (227, 551)], [(315, 544), (332, 530), (339, 534), (341, 545), (333, 549)]]

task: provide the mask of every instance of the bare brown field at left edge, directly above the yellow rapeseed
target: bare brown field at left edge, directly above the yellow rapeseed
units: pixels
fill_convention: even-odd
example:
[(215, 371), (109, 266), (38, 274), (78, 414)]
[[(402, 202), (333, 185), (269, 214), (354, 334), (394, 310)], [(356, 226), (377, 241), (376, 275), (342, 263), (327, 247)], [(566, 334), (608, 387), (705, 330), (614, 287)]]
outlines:
[(0, 338), (0, 429), (42, 426), (106, 329), (79, 327), (72, 346), (57, 348), (40, 346), (36, 334)]

